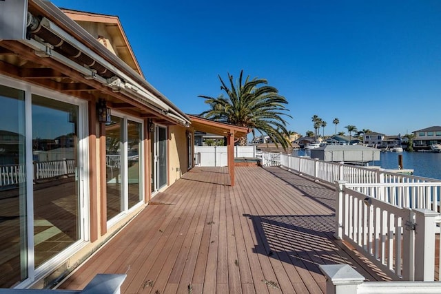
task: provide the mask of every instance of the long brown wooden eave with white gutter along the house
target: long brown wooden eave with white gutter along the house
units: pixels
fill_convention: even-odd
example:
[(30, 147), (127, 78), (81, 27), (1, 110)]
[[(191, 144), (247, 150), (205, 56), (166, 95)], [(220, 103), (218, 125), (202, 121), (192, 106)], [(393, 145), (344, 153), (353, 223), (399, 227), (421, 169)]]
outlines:
[(189, 126), (181, 109), (57, 6), (27, 3), (23, 16), (32, 21), (23, 28), (30, 38), (0, 36), (0, 74), (92, 102), (103, 98), (112, 109), (141, 118)]

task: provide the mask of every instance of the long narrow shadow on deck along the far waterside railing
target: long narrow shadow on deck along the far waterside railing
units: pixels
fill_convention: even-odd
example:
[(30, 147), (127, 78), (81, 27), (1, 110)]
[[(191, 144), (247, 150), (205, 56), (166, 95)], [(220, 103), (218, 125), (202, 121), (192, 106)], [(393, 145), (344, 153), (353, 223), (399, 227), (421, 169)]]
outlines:
[(280, 167), (265, 168), (273, 176), (280, 178), (294, 189), (300, 191), (304, 196), (314, 200), (331, 211), (335, 211), (336, 191), (331, 187), (318, 184), (314, 180), (303, 178)]

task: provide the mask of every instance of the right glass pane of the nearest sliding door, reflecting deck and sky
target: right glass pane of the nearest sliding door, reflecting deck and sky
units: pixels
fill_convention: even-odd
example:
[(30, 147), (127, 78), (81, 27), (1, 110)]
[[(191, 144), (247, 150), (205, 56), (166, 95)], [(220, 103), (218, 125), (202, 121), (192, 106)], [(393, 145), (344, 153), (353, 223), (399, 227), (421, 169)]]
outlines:
[(34, 262), (80, 240), (78, 105), (32, 95)]

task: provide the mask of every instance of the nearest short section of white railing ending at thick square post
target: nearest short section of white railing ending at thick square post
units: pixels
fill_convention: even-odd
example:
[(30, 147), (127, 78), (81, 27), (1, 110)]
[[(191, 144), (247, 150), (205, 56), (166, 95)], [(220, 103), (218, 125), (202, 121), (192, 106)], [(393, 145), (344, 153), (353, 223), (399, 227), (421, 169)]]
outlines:
[(336, 238), (351, 243), (395, 280), (433, 281), (440, 213), (416, 205), (398, 206), (353, 186), (337, 184)]

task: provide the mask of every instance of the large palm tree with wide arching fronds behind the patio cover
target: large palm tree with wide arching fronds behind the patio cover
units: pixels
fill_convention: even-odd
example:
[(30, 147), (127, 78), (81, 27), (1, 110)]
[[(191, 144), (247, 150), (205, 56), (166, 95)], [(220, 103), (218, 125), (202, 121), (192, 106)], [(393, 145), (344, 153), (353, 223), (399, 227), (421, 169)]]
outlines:
[[(283, 116), (289, 116), (285, 105), (288, 101), (278, 94), (275, 87), (271, 87), (263, 78), (247, 78), (243, 81), (243, 70), (240, 71), (238, 81), (234, 83), (233, 76), (228, 74), (229, 86), (220, 80), (220, 90), (227, 96), (220, 94), (217, 98), (200, 95), (205, 98), (205, 103), (210, 109), (203, 112), (201, 116), (223, 123), (248, 127), (252, 129), (253, 136), (256, 131), (260, 135), (266, 134), (271, 140), (280, 143), (283, 149), (287, 149), (289, 137), (286, 129), (286, 121)], [(246, 145), (247, 138), (239, 140), (240, 145)]]

